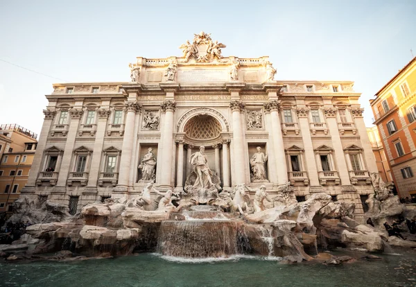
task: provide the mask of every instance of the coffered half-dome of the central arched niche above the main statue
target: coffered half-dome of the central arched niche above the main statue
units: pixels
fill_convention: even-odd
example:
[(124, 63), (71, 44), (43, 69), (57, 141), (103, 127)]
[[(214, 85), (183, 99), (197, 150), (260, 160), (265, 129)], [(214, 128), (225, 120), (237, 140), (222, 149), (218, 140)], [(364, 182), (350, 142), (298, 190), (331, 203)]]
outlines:
[(197, 114), (184, 126), (185, 138), (192, 143), (211, 143), (220, 138), (222, 130), (217, 119), (209, 114)]

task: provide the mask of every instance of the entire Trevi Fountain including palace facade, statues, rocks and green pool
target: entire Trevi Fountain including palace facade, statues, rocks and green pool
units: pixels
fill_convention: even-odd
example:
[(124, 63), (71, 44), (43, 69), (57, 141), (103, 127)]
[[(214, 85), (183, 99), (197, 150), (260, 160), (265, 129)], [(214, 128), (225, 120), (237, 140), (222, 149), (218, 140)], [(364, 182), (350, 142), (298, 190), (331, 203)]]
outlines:
[[(19, 240), (0, 245), (5, 259), (0, 263), (1, 284), (416, 283), (415, 236), (406, 234), (407, 240), (388, 236), (383, 226), (403, 218), (415, 219), (416, 207), (401, 205), (391, 186), (381, 181), (374, 171), (374, 158), (366, 150), (368, 139), (349, 142), (357, 138), (356, 134), (364, 137), (360, 130), (362, 111), (356, 107), (358, 97), (349, 95), (350, 86), (345, 84), (343, 101), (350, 101), (347, 109), (355, 121), (352, 130), (338, 130), (333, 116), (338, 104), (332, 104), (335, 101), (331, 103), (329, 96), (316, 91), (313, 101), (318, 101), (319, 96), (323, 98), (320, 101), (324, 106), (324, 126), (309, 125), (308, 111), (313, 110), (315, 103), (308, 102), (306, 92), (300, 92), (292, 82), (288, 84), (292, 93), (280, 91), (284, 85), (273, 80), (276, 70), (267, 58), (224, 58), (223, 48), (224, 44), (212, 41), (209, 34), (202, 32), (195, 35), (192, 43), (181, 46), (182, 58), (140, 58), (137, 64), (130, 64), (131, 82), (121, 84), (123, 93), (127, 93), (121, 96), (128, 98), (123, 132), (105, 132), (105, 121), (101, 130), (101, 119), (107, 119), (110, 112), (100, 112), (94, 134), (77, 132), (80, 118), (76, 113), (71, 114), (67, 132), (51, 133), (49, 128), (42, 128), (46, 132), (45, 142), (38, 145), (38, 159), (34, 161), (42, 167), (31, 171), (33, 185), (29, 180), (10, 218), (12, 222), (30, 225)], [(195, 85), (187, 83), (192, 81), (192, 69), (198, 71), (193, 78)], [(160, 78), (159, 70), (164, 72)], [(202, 71), (207, 71), (205, 76)], [(155, 85), (157, 81), (162, 82)], [(324, 89), (327, 84), (319, 85)], [(202, 97), (204, 93), (214, 95), (215, 91), (220, 95), (216, 103)], [(159, 101), (158, 93), (164, 93), (166, 101), (145, 107), (146, 101)], [(250, 93), (254, 96), (248, 96)], [(54, 94), (57, 98), (67, 96)], [(150, 98), (152, 94), (156, 95), (154, 99)], [(191, 101), (191, 94), (203, 100), (196, 97), (196, 101)], [(146, 101), (141, 101), (141, 96)], [(227, 102), (227, 107), (223, 107), (223, 102)], [(101, 108), (105, 105), (109, 104), (102, 103)], [(162, 107), (162, 114), (155, 108), (157, 105)], [(190, 106), (173, 116), (181, 105)], [(140, 114), (139, 106), (148, 110)], [(294, 117), (284, 112), (286, 107), (297, 114), (291, 125), (288, 121)], [(65, 109), (60, 107), (60, 111)], [(50, 109), (45, 113), (45, 122), (53, 121), (51, 112)], [(283, 113), (286, 117), (279, 116)], [(177, 129), (173, 131), (176, 120)], [(77, 121), (74, 129), (73, 121)], [(53, 129), (55, 125), (48, 127)], [(107, 128), (118, 126), (110, 124)], [(328, 132), (332, 137), (328, 138)], [(347, 134), (349, 138), (345, 137)], [(89, 175), (84, 175), (84, 170), (69, 171), (65, 159), (71, 159), (73, 150), (75, 156), (89, 150), (83, 137), (92, 136), (95, 143), (101, 140), (101, 148), (97, 158), (94, 142), (92, 153), (85, 153), (88, 160), (92, 155)], [(67, 139), (64, 147), (55, 143), (58, 138)], [(67, 152), (69, 141), (80, 142), (78, 146), (83, 148), (75, 148), (77, 145), (72, 143)], [(103, 142), (105, 147), (107, 141), (111, 142), (107, 146), (112, 147), (104, 149), (101, 157)], [(116, 159), (112, 167), (117, 171), (107, 169), (112, 153)], [(344, 153), (360, 155), (363, 173), (348, 171), (349, 157), (344, 157)], [(49, 174), (44, 170), (51, 167), (51, 155), (57, 155), (60, 164), (53, 166), (55, 171)], [(94, 159), (98, 159), (96, 164)], [(78, 167), (74, 163), (74, 168)], [(65, 201), (69, 197), (73, 202), (74, 195), (81, 205), (74, 207)], [(360, 195), (365, 196), (365, 202)], [(406, 224), (402, 223), (400, 228), (406, 229)]]

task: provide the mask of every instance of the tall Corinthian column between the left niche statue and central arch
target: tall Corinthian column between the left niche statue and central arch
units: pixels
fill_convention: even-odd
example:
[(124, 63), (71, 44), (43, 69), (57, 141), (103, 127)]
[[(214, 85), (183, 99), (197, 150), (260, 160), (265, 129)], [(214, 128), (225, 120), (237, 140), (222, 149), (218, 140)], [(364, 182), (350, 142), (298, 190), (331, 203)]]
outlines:
[(172, 151), (173, 151), (173, 112), (175, 112), (176, 103), (174, 101), (164, 101), (162, 105), (164, 116), (163, 138), (162, 142), (162, 159), (160, 165), (162, 168), (160, 186), (162, 188), (171, 189), (171, 175), (172, 175)]

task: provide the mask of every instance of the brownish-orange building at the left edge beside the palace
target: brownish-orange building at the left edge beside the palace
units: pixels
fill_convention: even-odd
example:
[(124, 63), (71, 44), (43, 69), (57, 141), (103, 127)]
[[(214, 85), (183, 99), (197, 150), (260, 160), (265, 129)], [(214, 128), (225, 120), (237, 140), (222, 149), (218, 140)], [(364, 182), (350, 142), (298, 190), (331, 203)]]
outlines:
[(0, 125), (0, 212), (11, 211), (31, 171), (37, 134), (16, 124)]

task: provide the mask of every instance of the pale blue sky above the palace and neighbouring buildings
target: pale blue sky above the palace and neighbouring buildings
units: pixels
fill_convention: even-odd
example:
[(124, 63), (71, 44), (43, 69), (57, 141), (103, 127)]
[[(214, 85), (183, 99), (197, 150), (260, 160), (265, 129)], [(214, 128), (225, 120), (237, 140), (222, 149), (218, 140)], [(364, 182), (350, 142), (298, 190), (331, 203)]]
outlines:
[(205, 31), (225, 56), (269, 55), (279, 80), (353, 80), (370, 126), (368, 100), (416, 55), (415, 15), (415, 0), (0, 0), (0, 123), (39, 133), (53, 83), (128, 81), (135, 57)]

